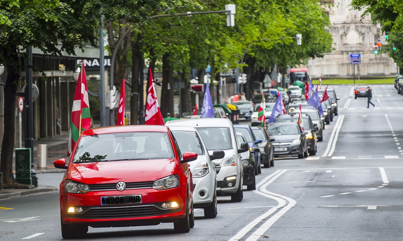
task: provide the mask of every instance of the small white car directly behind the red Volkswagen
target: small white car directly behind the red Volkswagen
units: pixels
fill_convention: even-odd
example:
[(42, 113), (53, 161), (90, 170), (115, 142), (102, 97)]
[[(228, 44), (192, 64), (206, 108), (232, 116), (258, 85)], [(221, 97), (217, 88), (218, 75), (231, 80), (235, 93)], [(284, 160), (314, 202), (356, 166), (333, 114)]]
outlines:
[[(193, 180), (193, 208), (203, 208), (204, 217), (217, 216), (216, 168), (199, 134), (193, 127), (169, 126), (181, 153), (195, 152), (197, 159), (188, 162)], [(222, 152), (222, 151), (221, 151)], [(217, 154), (216, 152), (215, 154)], [(224, 152), (221, 153), (224, 156)]]

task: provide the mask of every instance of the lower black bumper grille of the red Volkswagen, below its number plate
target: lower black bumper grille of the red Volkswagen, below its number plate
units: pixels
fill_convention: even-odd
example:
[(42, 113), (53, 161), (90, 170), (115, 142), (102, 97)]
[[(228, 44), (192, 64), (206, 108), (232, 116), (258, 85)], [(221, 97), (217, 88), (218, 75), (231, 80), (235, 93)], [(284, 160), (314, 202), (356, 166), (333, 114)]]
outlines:
[(86, 212), (67, 214), (71, 218), (102, 219), (102, 218), (137, 218), (169, 214), (179, 211), (180, 208), (161, 209), (154, 205), (124, 206), (124, 207), (96, 207)]

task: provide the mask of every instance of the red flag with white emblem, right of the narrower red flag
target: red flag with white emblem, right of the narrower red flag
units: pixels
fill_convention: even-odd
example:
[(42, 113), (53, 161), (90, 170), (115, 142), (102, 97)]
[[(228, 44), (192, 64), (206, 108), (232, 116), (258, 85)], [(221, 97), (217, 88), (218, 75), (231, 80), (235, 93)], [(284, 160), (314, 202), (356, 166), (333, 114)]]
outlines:
[(147, 92), (147, 103), (145, 104), (145, 124), (164, 126), (164, 119), (158, 106), (157, 94), (154, 87), (154, 78), (150, 69), (150, 85)]

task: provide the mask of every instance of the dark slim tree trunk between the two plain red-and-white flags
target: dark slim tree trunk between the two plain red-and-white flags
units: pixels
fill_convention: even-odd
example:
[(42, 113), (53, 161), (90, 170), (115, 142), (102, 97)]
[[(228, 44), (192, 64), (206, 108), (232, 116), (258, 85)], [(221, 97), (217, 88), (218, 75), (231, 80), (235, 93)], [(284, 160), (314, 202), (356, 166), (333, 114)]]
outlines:
[[(131, 43), (132, 49), (132, 66), (131, 66), (131, 96), (130, 98), (137, 101), (131, 101), (130, 105), (130, 123), (137, 125), (139, 123), (139, 63), (141, 60), (141, 46), (138, 42), (139, 39), (135, 39)], [(133, 94), (134, 93), (134, 94)], [(135, 96), (136, 95), (136, 96)]]

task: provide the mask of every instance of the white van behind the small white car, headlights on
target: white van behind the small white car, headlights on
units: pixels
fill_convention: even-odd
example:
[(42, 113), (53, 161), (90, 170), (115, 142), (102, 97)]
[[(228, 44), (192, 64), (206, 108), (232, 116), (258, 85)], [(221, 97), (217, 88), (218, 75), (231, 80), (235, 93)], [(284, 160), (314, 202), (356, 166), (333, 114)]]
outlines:
[(238, 149), (232, 122), (224, 118), (193, 118), (169, 121), (166, 126), (192, 126), (206, 144), (210, 155), (215, 150), (224, 151), (224, 158), (213, 160), (217, 172), (217, 194), (231, 195), (231, 201), (241, 202), (243, 165), (239, 153), (247, 151), (249, 146), (242, 143), (242, 148)]

